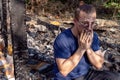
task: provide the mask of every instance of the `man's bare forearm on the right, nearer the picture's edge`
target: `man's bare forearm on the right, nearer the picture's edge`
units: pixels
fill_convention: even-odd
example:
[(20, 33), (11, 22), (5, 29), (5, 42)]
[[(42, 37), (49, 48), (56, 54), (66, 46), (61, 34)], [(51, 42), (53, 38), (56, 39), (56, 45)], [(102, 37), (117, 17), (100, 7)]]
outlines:
[(97, 69), (102, 68), (104, 57), (96, 54), (92, 49), (87, 50), (88, 59)]

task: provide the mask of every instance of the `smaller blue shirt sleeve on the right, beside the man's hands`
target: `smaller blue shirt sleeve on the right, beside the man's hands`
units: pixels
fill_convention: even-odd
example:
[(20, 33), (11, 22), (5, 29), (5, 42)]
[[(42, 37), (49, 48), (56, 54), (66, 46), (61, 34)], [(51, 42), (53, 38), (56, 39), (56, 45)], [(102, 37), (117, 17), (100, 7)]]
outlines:
[(100, 49), (100, 41), (99, 41), (97, 33), (94, 33), (92, 49), (93, 49), (93, 51), (97, 51)]

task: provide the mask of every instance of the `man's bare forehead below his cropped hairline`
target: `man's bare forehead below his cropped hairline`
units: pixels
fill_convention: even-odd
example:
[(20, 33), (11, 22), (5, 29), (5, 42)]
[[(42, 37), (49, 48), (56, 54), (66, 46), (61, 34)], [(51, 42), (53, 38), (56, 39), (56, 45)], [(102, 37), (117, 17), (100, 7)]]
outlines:
[(80, 18), (82, 18), (82, 19), (85, 19), (85, 18), (87, 18), (87, 19), (91, 19), (91, 18), (93, 18), (93, 19), (96, 19), (96, 12), (92, 12), (92, 13), (85, 13), (85, 12), (83, 12), (83, 11), (80, 11)]

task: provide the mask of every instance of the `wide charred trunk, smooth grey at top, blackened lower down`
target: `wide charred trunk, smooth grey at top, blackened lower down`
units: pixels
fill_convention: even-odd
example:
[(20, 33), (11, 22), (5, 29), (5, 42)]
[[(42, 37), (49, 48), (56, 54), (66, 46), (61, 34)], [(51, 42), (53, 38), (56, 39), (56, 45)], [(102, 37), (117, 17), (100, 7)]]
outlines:
[(29, 80), (24, 58), (27, 57), (24, 0), (11, 0), (11, 27), (16, 80)]

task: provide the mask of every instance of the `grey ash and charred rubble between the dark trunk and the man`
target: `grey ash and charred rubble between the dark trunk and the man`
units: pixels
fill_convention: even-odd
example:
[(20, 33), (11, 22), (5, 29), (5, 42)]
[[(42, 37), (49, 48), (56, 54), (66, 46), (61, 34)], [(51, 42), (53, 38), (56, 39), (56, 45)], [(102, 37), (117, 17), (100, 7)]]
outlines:
[[(31, 68), (30, 75), (32, 79), (39, 78), (52, 79), (53, 77), (53, 42), (55, 37), (64, 28), (51, 25), (38, 18), (26, 18), (27, 45), (29, 59), (27, 66)], [(30, 21), (29, 21), (30, 19)], [(37, 78), (37, 79), (39, 79)]]

